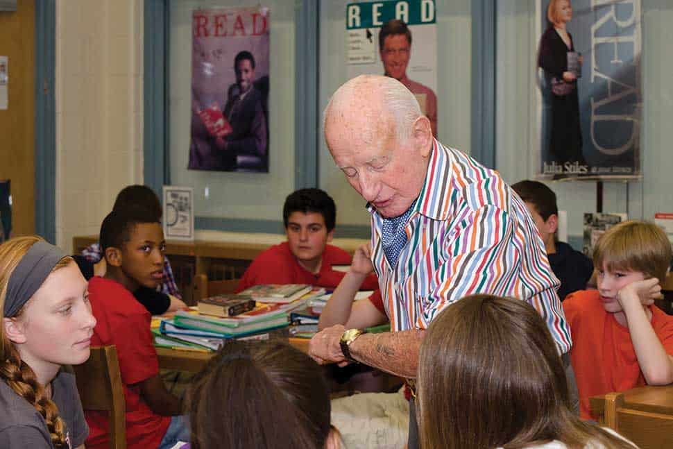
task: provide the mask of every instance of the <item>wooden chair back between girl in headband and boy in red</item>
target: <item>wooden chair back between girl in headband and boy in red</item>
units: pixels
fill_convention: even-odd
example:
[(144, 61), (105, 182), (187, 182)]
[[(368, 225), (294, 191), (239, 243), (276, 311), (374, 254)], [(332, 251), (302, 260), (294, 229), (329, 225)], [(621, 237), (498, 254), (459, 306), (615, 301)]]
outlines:
[(126, 402), (117, 348), (92, 347), (89, 359), (73, 369), (83, 409), (108, 412), (110, 448), (126, 449)]

